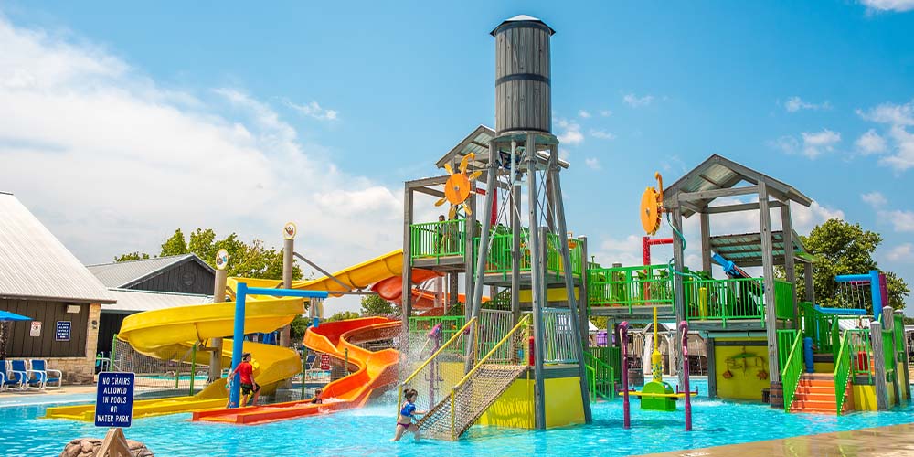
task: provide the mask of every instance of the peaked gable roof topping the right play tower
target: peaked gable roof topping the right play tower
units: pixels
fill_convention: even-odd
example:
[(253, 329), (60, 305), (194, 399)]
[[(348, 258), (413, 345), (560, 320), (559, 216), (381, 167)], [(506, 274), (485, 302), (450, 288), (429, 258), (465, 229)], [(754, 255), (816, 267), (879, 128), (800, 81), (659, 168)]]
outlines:
[[(740, 165), (732, 160), (718, 154), (708, 157), (692, 171), (686, 173), (678, 181), (664, 188), (664, 206), (672, 207), (673, 198), (679, 193), (696, 193), (705, 191), (715, 191), (720, 189), (729, 189), (737, 186), (741, 182), (748, 182), (752, 185), (758, 185), (764, 182), (768, 187), (771, 196), (778, 198), (782, 202), (792, 200), (804, 207), (813, 204), (810, 197), (806, 197), (799, 190), (792, 186), (774, 179), (769, 175), (755, 171), (748, 166)], [(723, 196), (721, 196), (723, 197)], [(695, 207), (707, 207), (709, 203), (718, 197), (708, 197), (693, 201)], [(695, 210), (689, 207), (683, 207), (683, 217), (688, 218), (695, 214)]]

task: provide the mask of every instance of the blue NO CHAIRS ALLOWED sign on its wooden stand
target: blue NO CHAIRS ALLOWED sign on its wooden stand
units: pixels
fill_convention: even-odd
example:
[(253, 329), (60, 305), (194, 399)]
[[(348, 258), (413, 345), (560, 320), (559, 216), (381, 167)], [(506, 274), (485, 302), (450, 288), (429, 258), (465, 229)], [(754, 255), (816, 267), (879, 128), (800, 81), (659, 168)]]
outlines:
[(133, 373), (103, 371), (99, 373), (99, 386), (95, 399), (95, 426), (109, 427), (101, 442), (100, 455), (130, 456), (130, 447), (122, 427), (133, 421)]

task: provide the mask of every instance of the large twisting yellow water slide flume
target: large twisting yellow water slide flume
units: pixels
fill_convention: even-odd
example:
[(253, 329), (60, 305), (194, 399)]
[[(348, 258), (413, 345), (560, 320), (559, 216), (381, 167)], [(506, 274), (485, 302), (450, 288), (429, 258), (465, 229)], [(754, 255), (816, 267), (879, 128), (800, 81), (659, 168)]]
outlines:
[[(401, 274), (403, 251), (395, 250), (366, 262), (334, 273), (336, 280), (353, 289), (364, 289), (375, 282)], [(278, 287), (276, 280), (231, 278), (228, 293), (234, 296), (239, 282), (251, 287)], [(292, 282), (292, 289), (341, 292), (345, 288), (329, 277)], [(274, 298), (249, 296), (245, 306), (244, 331), (269, 333), (288, 325), (296, 315), (304, 313), (300, 298)], [(118, 338), (147, 356), (181, 360), (195, 342), (208, 344), (210, 338), (232, 335), (235, 322), (235, 303), (214, 303), (180, 306), (164, 310), (132, 314), (123, 320)], [(222, 366), (231, 365), (232, 341), (223, 341)], [(254, 378), (269, 391), (283, 380), (302, 371), (297, 352), (276, 345), (245, 342), (244, 351), (250, 352), (255, 371)], [(206, 354), (206, 353), (200, 353)], [(133, 417), (156, 416), (176, 412), (224, 408), (227, 399), (225, 380), (214, 382), (194, 396), (169, 399), (137, 400), (133, 403)], [(95, 405), (76, 405), (48, 408), (46, 418), (92, 420)]]

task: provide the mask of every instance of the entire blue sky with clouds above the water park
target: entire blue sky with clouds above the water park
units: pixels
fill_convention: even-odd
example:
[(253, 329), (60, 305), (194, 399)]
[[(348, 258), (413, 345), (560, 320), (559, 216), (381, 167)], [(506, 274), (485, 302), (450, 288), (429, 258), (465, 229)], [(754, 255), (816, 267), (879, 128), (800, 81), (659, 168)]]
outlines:
[(0, 2), (0, 188), (86, 262), (155, 251), (175, 227), (278, 245), (289, 219), (327, 268), (365, 260), (399, 248), (402, 182), (494, 123), (488, 32), (528, 14), (558, 31), (569, 228), (598, 260), (640, 260), (654, 170), (672, 182), (717, 153), (813, 197), (799, 231), (880, 232), (880, 266), (914, 282), (912, 9)]

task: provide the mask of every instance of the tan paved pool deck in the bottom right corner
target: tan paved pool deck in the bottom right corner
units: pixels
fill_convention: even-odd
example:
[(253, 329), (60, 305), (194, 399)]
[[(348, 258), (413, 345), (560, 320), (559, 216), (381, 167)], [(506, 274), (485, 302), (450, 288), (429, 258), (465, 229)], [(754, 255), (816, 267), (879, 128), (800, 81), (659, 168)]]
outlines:
[(914, 455), (914, 423), (874, 429), (835, 431), (784, 440), (755, 441), (713, 448), (660, 452), (644, 457), (829, 457)]

